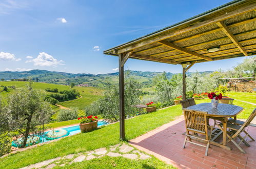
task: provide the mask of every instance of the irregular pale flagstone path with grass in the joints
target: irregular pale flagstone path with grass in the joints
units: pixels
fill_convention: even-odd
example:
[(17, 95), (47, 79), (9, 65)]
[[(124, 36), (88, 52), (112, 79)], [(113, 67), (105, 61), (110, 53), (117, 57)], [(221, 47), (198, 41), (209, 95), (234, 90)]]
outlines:
[(100, 158), (103, 156), (110, 156), (110, 157), (120, 156), (124, 158), (129, 158), (132, 160), (136, 160), (136, 159), (145, 160), (145, 159), (151, 158), (149, 155), (146, 155), (134, 149), (132, 146), (123, 143), (123, 144), (116, 144), (116, 145), (110, 146), (109, 149), (107, 149), (106, 147), (103, 147), (94, 151), (88, 151), (88, 152), (78, 153), (78, 154), (69, 154), (64, 157), (49, 159), (43, 162), (38, 162), (36, 164), (31, 164), (29, 166), (23, 167), (22, 169), (43, 168), (43, 167), (53, 168), (55, 166), (65, 166), (67, 164), (72, 164), (74, 162), (82, 162), (84, 160), (91, 160), (91, 159)]

